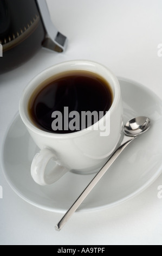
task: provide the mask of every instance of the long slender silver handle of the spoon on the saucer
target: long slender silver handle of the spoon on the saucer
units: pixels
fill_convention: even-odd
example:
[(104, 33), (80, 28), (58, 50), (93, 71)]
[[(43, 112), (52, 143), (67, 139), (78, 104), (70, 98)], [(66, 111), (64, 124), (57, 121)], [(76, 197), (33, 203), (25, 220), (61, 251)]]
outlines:
[(90, 181), (89, 185), (85, 188), (85, 190), (80, 194), (79, 198), (76, 199), (75, 203), (71, 206), (71, 208), (66, 212), (66, 214), (62, 217), (62, 219), (59, 221), (59, 223), (56, 224), (55, 230), (60, 231), (64, 224), (69, 220), (70, 217), (74, 214), (74, 212), (79, 208), (83, 200), (88, 196), (90, 191), (94, 188), (94, 186), (99, 182), (99, 180), (102, 178), (102, 176), (107, 172), (108, 168), (111, 167), (113, 162), (116, 160), (116, 158), (120, 155), (120, 153), (127, 147), (129, 143), (131, 143), (134, 138), (136, 137), (128, 137), (124, 136), (124, 139), (121, 142), (121, 145), (116, 151), (113, 153), (113, 155), (110, 157), (110, 159), (107, 161), (105, 166), (102, 167), (102, 169), (96, 174), (96, 176), (93, 178), (92, 181)]

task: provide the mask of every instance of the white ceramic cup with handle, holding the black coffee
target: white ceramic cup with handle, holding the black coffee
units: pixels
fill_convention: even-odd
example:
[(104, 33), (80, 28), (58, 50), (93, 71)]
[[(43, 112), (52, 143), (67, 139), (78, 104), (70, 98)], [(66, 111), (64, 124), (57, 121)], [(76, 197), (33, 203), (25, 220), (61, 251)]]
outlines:
[[(55, 74), (72, 70), (90, 71), (105, 78), (113, 93), (111, 108), (102, 119), (85, 130), (57, 134), (38, 129), (28, 113), (31, 95), (43, 81)], [(97, 172), (113, 153), (121, 137), (123, 109), (119, 81), (105, 66), (88, 60), (72, 60), (51, 66), (37, 75), (24, 89), (20, 100), (20, 115), (40, 148), (31, 163), (31, 176), (37, 184), (53, 184), (69, 171), (79, 174)], [(109, 130), (106, 136), (103, 135), (103, 124), (108, 125), (105, 126)], [(49, 171), (47, 167), (51, 160), (55, 163)]]

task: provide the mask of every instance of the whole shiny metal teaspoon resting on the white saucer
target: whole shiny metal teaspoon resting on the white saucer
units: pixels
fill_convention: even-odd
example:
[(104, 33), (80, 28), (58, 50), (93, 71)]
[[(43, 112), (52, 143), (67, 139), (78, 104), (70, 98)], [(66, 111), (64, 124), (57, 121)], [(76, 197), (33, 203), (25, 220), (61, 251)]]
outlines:
[(85, 188), (85, 190), (81, 193), (79, 198), (75, 201), (75, 203), (71, 206), (71, 208), (66, 212), (63, 218), (59, 223), (55, 226), (56, 231), (60, 231), (64, 224), (69, 220), (70, 217), (74, 214), (74, 212), (79, 208), (83, 200), (88, 196), (90, 191), (94, 188), (94, 186), (99, 182), (102, 176), (107, 172), (108, 168), (111, 167), (116, 158), (120, 155), (120, 153), (127, 147), (129, 143), (131, 143), (135, 138), (137, 138), (141, 133), (146, 132), (150, 129), (151, 120), (147, 117), (137, 117), (133, 118), (126, 123), (124, 126), (124, 138), (122, 139), (121, 145), (118, 149), (116, 149), (110, 159), (107, 161), (105, 166), (96, 174), (94, 179), (90, 181), (89, 185)]

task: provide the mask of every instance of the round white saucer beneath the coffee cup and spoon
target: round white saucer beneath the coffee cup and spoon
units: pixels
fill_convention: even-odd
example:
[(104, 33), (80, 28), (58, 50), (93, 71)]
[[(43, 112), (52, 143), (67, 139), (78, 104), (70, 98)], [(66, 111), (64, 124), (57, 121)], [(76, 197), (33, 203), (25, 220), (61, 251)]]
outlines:
[[(144, 191), (162, 172), (162, 102), (140, 84), (119, 78), (124, 102), (124, 121), (145, 115), (151, 118), (150, 131), (136, 139), (119, 156), (77, 211), (109, 208)], [(64, 213), (74, 203), (93, 175), (67, 173), (54, 185), (41, 187), (30, 176), (30, 164), (38, 151), (20, 115), (17, 114), (5, 137), (3, 169), (12, 189), (38, 208)]]

